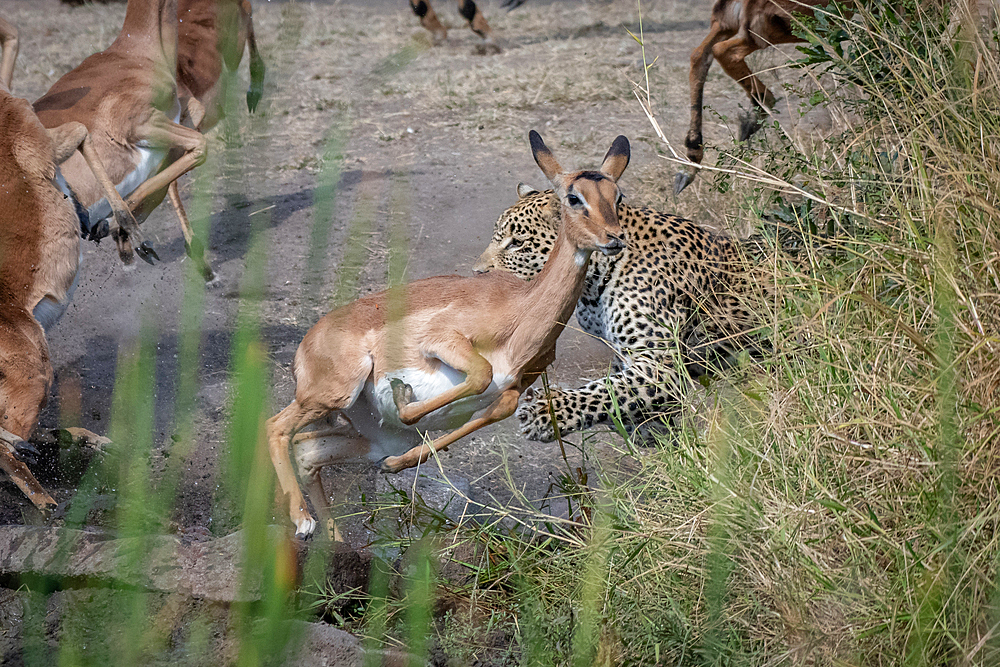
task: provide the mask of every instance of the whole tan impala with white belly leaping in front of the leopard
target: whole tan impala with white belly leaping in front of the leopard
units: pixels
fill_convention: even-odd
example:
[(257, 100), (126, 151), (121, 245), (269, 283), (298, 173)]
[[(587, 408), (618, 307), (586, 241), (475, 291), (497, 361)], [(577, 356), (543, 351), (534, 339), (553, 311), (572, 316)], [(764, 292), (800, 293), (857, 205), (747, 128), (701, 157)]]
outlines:
[[(529, 139), (563, 207), (555, 247), (535, 280), (501, 272), (419, 280), (329, 313), (299, 345), (295, 400), (267, 423), (271, 460), (297, 535), (316, 527), (289, 458), (297, 431), (338, 416), (350, 424), (301, 434), (296, 442), (323, 515), (323, 466), (364, 457), (379, 461), (384, 472), (399, 472), (509, 417), (521, 392), (555, 358), (591, 254), (624, 249), (616, 206), (628, 139), (615, 139), (600, 171), (576, 172), (563, 171), (537, 132)], [(450, 432), (422, 443), (436, 430)]]

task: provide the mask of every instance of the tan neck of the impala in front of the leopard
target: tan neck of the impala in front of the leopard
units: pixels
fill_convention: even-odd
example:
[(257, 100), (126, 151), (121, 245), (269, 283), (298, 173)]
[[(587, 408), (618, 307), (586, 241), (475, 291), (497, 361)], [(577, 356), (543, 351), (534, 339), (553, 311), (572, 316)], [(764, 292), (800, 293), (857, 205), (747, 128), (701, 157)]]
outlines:
[(555, 344), (583, 292), (592, 250), (580, 250), (565, 233), (562, 223), (556, 244), (541, 273), (528, 286), (527, 306), (521, 310), (518, 337), (531, 347), (543, 349)]

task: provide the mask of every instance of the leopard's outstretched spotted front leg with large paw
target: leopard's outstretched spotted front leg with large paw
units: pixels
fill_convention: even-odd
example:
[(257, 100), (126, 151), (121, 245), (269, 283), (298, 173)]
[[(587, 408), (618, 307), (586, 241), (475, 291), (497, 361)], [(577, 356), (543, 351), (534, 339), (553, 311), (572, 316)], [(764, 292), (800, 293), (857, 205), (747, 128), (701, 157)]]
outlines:
[(542, 442), (555, 439), (553, 415), (562, 434), (610, 423), (616, 414), (631, 430), (673, 411), (681, 381), (682, 376), (667, 359), (633, 360), (620, 372), (578, 389), (550, 387), (549, 396), (529, 389), (515, 414), (521, 433)]

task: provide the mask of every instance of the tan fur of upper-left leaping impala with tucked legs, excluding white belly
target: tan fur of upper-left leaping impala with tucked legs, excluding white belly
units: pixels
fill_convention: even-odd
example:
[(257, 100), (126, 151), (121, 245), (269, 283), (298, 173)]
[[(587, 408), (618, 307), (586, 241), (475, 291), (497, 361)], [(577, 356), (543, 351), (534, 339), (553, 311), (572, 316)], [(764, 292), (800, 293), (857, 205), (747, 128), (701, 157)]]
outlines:
[[(172, 120), (181, 112), (176, 62), (177, 0), (130, 0), (114, 43), (64, 75), (34, 105), (45, 127), (83, 123), (114, 183), (139, 164), (138, 146), (171, 149), (159, 173), (128, 197), (129, 207), (139, 209), (140, 216), (148, 215), (167, 186), (205, 157), (205, 138)], [(84, 208), (103, 198), (92, 171), (77, 156), (67, 160), (62, 172)], [(128, 238), (141, 236), (137, 228), (125, 231), (119, 251), (128, 261)]]

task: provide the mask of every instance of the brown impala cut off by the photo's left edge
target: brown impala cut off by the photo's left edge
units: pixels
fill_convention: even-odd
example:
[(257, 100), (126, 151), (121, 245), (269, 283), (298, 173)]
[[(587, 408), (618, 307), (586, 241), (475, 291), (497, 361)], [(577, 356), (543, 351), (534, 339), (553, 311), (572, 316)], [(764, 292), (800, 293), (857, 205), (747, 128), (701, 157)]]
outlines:
[[(7, 60), (12, 35), (14, 27), (0, 19), (0, 72), (13, 69)], [(10, 94), (8, 82), (0, 80), (0, 468), (44, 509), (55, 504), (52, 497), (14, 454), (31, 436), (52, 384), (36, 308), (43, 301), (51, 302), (50, 314), (65, 308), (79, 264), (80, 222), (54, 183), (56, 165), (79, 149), (116, 215), (128, 214), (87, 128), (70, 122), (46, 130), (28, 101)]]

